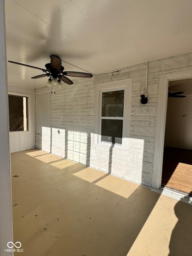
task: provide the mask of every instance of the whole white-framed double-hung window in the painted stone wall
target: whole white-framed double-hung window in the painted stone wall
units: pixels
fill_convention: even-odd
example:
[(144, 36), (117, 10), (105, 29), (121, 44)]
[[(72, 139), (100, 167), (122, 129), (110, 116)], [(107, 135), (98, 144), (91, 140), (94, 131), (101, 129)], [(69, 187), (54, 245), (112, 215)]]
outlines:
[(94, 143), (128, 149), (132, 80), (97, 85)]

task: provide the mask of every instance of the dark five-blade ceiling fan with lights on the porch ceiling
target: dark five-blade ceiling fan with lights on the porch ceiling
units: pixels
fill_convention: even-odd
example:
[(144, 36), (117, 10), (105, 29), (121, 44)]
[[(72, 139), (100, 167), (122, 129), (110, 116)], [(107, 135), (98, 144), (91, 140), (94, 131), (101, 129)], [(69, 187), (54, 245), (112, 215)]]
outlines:
[(90, 73), (64, 71), (64, 67), (61, 65), (61, 58), (59, 56), (51, 55), (50, 58), (51, 58), (50, 63), (45, 64), (46, 69), (37, 68), (34, 66), (30, 66), (30, 65), (19, 63), (19, 62), (10, 61), (10, 60), (8, 60), (8, 62), (26, 66), (29, 68), (36, 68), (36, 69), (42, 70), (45, 74), (41, 74), (32, 78), (36, 79), (40, 77), (49, 77), (48, 83), (52, 84), (53, 86), (56, 86), (59, 83), (61, 84), (61, 81), (67, 84), (73, 84), (73, 82), (66, 76), (70, 76), (70, 77), (92, 77), (93, 76)]

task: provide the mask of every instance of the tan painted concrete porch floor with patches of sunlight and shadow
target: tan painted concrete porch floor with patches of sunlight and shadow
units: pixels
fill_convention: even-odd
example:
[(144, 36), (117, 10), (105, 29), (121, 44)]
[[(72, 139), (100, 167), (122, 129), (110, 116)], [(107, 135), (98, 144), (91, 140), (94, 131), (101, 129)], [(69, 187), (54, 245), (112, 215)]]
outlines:
[(14, 255), (192, 256), (190, 204), (38, 149), (11, 172)]

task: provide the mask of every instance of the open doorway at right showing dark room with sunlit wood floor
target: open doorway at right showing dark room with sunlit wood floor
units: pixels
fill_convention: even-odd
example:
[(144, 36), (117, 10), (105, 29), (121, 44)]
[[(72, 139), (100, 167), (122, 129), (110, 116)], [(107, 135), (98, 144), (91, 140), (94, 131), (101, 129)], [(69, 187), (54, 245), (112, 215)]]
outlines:
[(168, 91), (161, 187), (192, 195), (192, 79), (169, 81)]

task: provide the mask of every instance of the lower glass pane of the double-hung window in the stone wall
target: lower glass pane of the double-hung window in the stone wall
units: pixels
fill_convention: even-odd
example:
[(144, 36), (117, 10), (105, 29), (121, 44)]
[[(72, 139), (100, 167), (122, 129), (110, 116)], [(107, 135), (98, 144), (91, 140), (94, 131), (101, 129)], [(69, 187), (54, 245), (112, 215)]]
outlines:
[(122, 131), (123, 120), (101, 120), (101, 141), (122, 145)]

